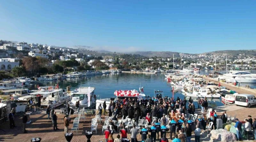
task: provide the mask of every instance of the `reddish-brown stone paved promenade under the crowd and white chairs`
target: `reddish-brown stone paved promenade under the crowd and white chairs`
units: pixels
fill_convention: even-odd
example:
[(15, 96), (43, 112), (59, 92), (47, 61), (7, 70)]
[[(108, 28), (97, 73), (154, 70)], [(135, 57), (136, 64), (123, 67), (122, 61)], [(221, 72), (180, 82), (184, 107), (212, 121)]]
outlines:
[[(252, 115), (252, 117), (256, 117), (255, 111), (256, 108), (235, 108), (237, 106), (228, 106), (228, 107), (222, 107), (222, 108), (216, 108), (218, 111), (227, 110), (228, 115), (237, 115), (236, 117), (240, 120), (247, 117), (248, 114)], [(232, 109), (231, 109), (232, 108)], [(231, 111), (229, 111), (230, 109)], [(218, 113), (220, 114), (220, 113)], [(42, 142), (65, 142), (66, 139), (64, 137), (64, 125), (63, 125), (63, 117), (64, 115), (60, 115), (57, 113), (58, 116), (58, 128), (59, 130), (53, 131), (53, 127), (51, 124), (51, 120), (47, 119), (47, 115), (45, 111), (43, 111), (41, 114), (32, 114), (31, 120), (32, 123), (27, 125), (28, 133), (22, 132), (22, 119), (21, 117), (16, 116), (15, 118), (15, 124), (16, 128), (9, 129), (9, 122), (4, 123), (0, 128), (0, 142), (28, 142), (31, 138), (40, 137), (42, 138)], [(72, 120), (73, 121), (73, 115)], [(76, 117), (76, 116), (75, 116)], [(90, 131), (90, 124), (91, 119), (94, 118), (94, 116), (89, 115), (86, 116), (86, 120), (81, 120), (81, 123), (79, 124), (79, 131), (78, 133), (74, 132), (74, 137), (72, 139), (72, 142), (80, 142), (80, 141), (87, 141), (87, 138), (85, 137), (85, 131)], [(70, 124), (69, 128), (72, 127), (72, 123)], [(98, 126), (98, 132), (95, 134), (93, 133), (93, 136), (91, 138), (92, 142), (99, 142), (99, 141), (105, 141), (104, 135), (102, 134), (102, 125)], [(70, 130), (70, 129), (69, 129)], [(117, 134), (114, 134), (114, 138), (116, 138)], [(205, 133), (204, 136), (201, 137), (201, 141), (211, 141), (208, 138), (206, 138), (207, 134)], [(131, 138), (131, 135), (128, 134), (128, 138)], [(140, 134), (137, 135), (137, 138), (139, 141), (141, 141)], [(167, 138), (170, 138), (170, 133), (167, 133)], [(171, 140), (169, 139), (169, 142)], [(194, 141), (194, 135), (192, 135), (192, 141)], [(252, 141), (252, 140), (251, 140)]]

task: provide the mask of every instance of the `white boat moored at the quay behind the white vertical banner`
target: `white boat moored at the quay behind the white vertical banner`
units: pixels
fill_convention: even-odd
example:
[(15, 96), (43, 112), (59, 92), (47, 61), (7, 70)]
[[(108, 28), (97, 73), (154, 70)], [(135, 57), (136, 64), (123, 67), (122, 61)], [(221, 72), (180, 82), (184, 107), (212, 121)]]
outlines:
[[(94, 87), (80, 87), (69, 93), (71, 96), (70, 108), (76, 110), (76, 102), (80, 102), (80, 108), (89, 108), (95, 106)], [(95, 97), (94, 97), (95, 96)]]

